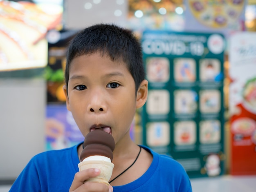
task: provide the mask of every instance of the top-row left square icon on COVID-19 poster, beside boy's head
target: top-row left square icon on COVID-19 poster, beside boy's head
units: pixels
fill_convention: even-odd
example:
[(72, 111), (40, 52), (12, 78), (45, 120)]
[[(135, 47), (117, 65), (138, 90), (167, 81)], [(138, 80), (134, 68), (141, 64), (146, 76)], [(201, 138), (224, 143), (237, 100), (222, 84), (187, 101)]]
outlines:
[(150, 82), (167, 82), (170, 78), (170, 63), (165, 57), (146, 59), (147, 79)]

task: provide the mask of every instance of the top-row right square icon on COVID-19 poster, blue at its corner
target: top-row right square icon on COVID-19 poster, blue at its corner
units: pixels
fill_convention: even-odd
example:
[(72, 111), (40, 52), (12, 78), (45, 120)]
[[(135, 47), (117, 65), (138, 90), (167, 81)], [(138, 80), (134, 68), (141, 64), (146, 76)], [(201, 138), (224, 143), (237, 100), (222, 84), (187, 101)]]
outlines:
[(222, 80), (220, 61), (218, 59), (201, 59), (199, 63), (200, 80), (202, 82)]

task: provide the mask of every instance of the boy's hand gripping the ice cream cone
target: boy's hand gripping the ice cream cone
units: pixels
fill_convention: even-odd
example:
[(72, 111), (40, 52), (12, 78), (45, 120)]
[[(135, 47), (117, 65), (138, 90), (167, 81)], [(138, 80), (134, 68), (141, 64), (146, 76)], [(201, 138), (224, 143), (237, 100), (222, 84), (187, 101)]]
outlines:
[(87, 179), (98, 176), (99, 173), (99, 169), (88, 169), (77, 172), (70, 187), (70, 192), (113, 192), (111, 185), (107, 186), (103, 183), (86, 182)]

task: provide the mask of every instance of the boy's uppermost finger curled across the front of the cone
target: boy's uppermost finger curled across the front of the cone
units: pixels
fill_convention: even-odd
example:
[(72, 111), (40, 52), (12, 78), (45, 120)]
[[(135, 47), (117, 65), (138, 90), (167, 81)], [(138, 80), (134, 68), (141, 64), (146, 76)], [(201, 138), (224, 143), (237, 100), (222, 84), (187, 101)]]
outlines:
[(83, 183), (91, 178), (99, 175), (100, 170), (99, 169), (87, 169), (83, 171), (79, 171), (75, 174), (73, 182), (70, 186), (70, 191), (74, 191), (77, 188), (79, 188)]

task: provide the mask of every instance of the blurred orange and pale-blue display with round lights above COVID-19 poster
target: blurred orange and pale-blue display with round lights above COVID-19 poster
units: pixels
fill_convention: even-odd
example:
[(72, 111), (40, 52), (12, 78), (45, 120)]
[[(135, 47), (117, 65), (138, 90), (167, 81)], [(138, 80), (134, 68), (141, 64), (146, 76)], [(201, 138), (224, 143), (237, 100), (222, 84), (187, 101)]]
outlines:
[(129, 0), (127, 26), (141, 36), (146, 29), (184, 30), (182, 0)]

